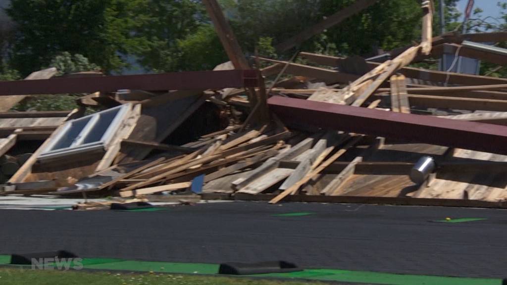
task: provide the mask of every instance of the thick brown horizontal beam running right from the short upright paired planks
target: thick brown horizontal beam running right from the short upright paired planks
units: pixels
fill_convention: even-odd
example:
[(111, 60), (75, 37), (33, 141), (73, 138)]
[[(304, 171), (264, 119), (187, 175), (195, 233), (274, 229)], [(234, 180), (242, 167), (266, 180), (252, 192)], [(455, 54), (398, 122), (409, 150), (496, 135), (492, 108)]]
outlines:
[(472, 111), (484, 110), (496, 112), (507, 111), (506, 100), (442, 97), (442, 96), (415, 95), (415, 94), (410, 94), (409, 100), (411, 105), (421, 106), (425, 108), (458, 109)]

